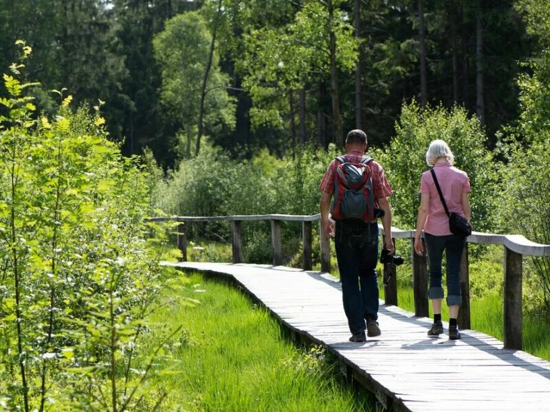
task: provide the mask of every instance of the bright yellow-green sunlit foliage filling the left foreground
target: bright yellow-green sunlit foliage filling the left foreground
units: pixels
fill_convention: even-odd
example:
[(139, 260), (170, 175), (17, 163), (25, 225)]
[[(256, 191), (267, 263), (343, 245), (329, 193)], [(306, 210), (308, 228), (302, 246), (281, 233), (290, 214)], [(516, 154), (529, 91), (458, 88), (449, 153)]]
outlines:
[(0, 98), (0, 407), (139, 407), (154, 390), (140, 337), (164, 276), (146, 174), (98, 108), (74, 112), (69, 95), (54, 116), (36, 111), (18, 43)]

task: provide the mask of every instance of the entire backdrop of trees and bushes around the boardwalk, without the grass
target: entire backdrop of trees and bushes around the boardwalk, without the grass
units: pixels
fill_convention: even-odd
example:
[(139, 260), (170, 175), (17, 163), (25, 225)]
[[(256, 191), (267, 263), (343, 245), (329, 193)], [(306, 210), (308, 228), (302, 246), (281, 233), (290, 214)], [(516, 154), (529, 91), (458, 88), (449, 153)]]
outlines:
[[(414, 227), (443, 138), (476, 230), (550, 244), (547, 0), (0, 6), (0, 406), (154, 409), (168, 394), (140, 392), (148, 353), (186, 336), (143, 350), (169, 277), (146, 217), (316, 214), (351, 128), (393, 185), (394, 226)], [(300, 228), (284, 229), (296, 265)], [(187, 230), (230, 243), (223, 223)], [(243, 238), (245, 261), (270, 262), (265, 223)], [(472, 257), (501, 290), (495, 254)], [(548, 323), (549, 260), (526, 264), (525, 309)]]

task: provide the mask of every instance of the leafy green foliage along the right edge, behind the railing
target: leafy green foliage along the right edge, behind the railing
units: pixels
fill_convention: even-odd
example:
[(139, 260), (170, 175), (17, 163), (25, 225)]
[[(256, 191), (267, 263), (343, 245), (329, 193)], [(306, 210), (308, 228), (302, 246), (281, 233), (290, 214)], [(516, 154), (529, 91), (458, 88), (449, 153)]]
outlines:
[[(501, 146), (509, 162), (497, 192), (498, 211), (503, 230), (550, 244), (550, 8), (544, 0), (521, 0), (518, 8), (529, 33), (537, 36), (542, 54), (525, 62), (531, 72), (518, 80), (520, 117), (515, 127), (506, 129), (507, 139)], [(528, 281), (538, 290), (531, 300), (542, 300), (550, 310), (550, 260), (534, 258), (530, 263), (534, 272)]]

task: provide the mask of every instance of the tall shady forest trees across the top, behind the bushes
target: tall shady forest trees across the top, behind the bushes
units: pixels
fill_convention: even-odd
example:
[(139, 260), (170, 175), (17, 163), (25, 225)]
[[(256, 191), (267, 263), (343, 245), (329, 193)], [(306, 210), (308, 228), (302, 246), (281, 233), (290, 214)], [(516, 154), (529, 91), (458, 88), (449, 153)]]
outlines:
[[(74, 107), (102, 100), (124, 155), (150, 148), (165, 170), (194, 155), (203, 136), (239, 159), (263, 148), (280, 157), (307, 142), (341, 146), (355, 126), (380, 147), (401, 103), (424, 98), (469, 114), (483, 108), (492, 147), (518, 115), (518, 62), (539, 54), (513, 3), (425, 0), (420, 34), (412, 0), (0, 0), (0, 68), (13, 61), (14, 40), (25, 39), (35, 49), (28, 78), (41, 80), (40, 109), (54, 111), (49, 91), (63, 87)], [(544, 1), (520, 3), (535, 23), (537, 3), (543, 16)], [(190, 43), (176, 21), (193, 21), (201, 41)], [(154, 38), (171, 39), (165, 52)], [(184, 89), (190, 79), (195, 89)]]

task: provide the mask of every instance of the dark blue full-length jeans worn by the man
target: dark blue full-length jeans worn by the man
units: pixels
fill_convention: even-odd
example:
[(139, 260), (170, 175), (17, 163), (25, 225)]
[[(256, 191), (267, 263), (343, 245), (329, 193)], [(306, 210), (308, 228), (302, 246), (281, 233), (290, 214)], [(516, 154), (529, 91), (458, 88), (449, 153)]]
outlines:
[(362, 332), (365, 319), (378, 319), (378, 224), (336, 220), (334, 243), (349, 330)]

